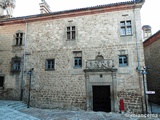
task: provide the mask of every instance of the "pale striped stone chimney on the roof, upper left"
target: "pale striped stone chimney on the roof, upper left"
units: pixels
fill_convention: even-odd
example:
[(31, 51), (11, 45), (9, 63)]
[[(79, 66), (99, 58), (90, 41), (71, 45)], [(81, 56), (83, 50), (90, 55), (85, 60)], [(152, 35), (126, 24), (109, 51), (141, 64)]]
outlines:
[(41, 1), (42, 1), (42, 3), (39, 4), (41, 14), (50, 13), (51, 10), (50, 10), (49, 5), (46, 3), (45, 0), (41, 0)]

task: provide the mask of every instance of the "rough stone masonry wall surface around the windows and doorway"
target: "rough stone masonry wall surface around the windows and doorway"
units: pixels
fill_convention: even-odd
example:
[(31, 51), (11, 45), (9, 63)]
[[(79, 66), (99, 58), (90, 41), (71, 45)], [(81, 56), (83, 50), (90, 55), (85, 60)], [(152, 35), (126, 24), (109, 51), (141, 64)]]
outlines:
[[(123, 16), (124, 14), (128, 14), (128, 16)], [(139, 9), (136, 9), (136, 15), (140, 63), (144, 65)], [(120, 21), (124, 20), (132, 21), (133, 35), (120, 36)], [(113, 59), (115, 67), (118, 69), (117, 98), (125, 100), (126, 111), (140, 113), (142, 89), (139, 74), (136, 71), (137, 55), (133, 20), (133, 11), (124, 10), (28, 23), (26, 52), (29, 54), (26, 55), (26, 71), (34, 68), (31, 106), (42, 108), (74, 106), (86, 109), (86, 86), (83, 70), (85, 62), (95, 59), (100, 52), (105, 59)], [(76, 40), (66, 41), (65, 34), (68, 25), (76, 26)], [(1, 26), (0, 29), (2, 29), (0, 41), (3, 42), (3, 47), (0, 48), (6, 49), (6, 52), (0, 52), (0, 57), (5, 61), (1, 65), (2, 74), (6, 76), (5, 89), (18, 89), (21, 84), (21, 74), (18, 78), (10, 75), (10, 60), (15, 54), (22, 56), (23, 51), (18, 50), (13, 53), (12, 41), (13, 34), (17, 30), (25, 31), (25, 24)], [(128, 67), (120, 68), (118, 66), (120, 50), (127, 51)], [(83, 65), (81, 69), (73, 68), (73, 51), (82, 51)], [(46, 71), (45, 60), (51, 58), (55, 59), (55, 70)], [(27, 100), (29, 78), (26, 73), (25, 76), (24, 99)], [(18, 85), (15, 84), (16, 80), (19, 80)]]

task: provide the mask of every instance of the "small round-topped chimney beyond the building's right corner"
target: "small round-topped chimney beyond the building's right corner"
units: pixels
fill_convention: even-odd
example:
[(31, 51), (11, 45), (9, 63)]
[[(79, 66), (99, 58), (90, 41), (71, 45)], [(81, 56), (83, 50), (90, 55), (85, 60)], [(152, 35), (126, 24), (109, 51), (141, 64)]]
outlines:
[(143, 30), (143, 40), (146, 40), (152, 35), (152, 29), (151, 26), (149, 25), (143, 25), (142, 30)]

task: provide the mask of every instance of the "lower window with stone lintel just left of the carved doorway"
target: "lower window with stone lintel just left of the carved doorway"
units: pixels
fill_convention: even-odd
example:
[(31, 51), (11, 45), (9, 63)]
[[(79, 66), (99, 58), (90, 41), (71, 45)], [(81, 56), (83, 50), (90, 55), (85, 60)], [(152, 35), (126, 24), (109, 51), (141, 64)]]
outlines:
[(82, 68), (82, 52), (74, 51), (74, 68)]

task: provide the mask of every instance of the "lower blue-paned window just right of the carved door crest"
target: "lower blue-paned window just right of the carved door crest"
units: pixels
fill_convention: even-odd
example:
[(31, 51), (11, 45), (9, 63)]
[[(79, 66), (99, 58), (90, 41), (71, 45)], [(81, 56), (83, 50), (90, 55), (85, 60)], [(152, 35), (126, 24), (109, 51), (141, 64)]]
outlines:
[(119, 55), (119, 67), (128, 66), (128, 57), (126, 55)]

